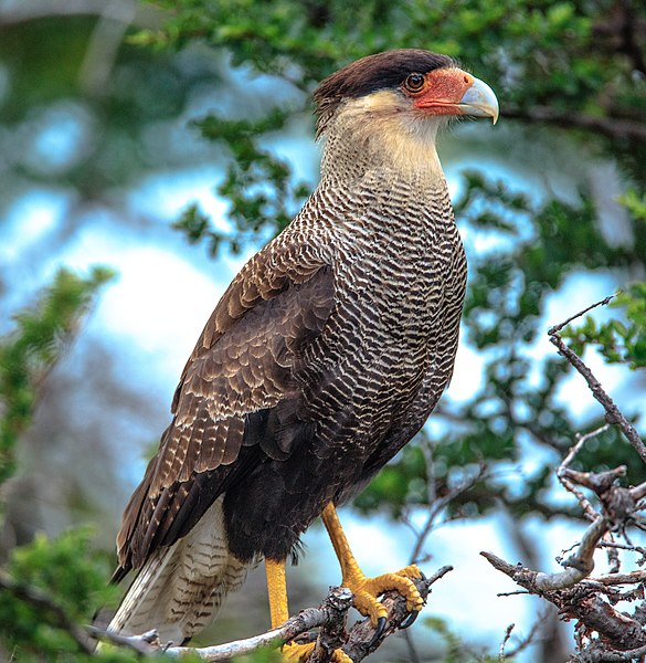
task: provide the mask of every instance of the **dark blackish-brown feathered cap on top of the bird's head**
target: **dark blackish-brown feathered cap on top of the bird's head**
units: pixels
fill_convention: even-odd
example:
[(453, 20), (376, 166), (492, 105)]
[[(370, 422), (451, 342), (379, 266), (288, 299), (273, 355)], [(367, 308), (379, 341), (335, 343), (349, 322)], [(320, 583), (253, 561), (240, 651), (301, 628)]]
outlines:
[(456, 66), (451, 57), (422, 49), (398, 49), (351, 62), (325, 78), (314, 93), (318, 116), (317, 136), (325, 130), (343, 99), (398, 87), (412, 73), (426, 74), (451, 66)]

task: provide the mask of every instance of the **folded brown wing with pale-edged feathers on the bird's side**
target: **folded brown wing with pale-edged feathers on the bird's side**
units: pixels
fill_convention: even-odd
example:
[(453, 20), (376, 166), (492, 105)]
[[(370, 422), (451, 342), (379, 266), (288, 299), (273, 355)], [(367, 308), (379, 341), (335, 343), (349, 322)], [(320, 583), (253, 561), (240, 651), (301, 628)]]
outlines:
[(289, 453), (294, 433), (279, 440), (264, 431), (277, 406), (294, 411), (300, 352), (335, 301), (331, 270), (315, 260), (294, 264), (293, 254), (269, 245), (254, 256), (206, 323), (177, 388), (173, 420), (126, 507), (117, 579), (186, 535), (263, 457)]

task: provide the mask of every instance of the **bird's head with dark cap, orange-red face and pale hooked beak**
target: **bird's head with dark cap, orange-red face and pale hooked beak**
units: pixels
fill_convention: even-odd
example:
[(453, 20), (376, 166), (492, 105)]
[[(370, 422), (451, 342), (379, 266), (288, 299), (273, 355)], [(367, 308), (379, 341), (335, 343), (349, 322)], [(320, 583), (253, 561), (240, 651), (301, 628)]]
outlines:
[(435, 148), (437, 128), (455, 116), (498, 118), (483, 81), (446, 55), (399, 49), (368, 55), (331, 74), (314, 93), (317, 137), (343, 134), (390, 152)]

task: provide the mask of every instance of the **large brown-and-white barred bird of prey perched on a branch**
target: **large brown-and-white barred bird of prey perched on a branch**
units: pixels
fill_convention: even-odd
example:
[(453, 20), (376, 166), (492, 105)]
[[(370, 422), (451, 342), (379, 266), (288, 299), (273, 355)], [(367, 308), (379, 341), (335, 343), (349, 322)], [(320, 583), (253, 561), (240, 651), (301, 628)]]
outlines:
[[(423, 607), (416, 566), (361, 571), (336, 508), (420, 431), (451, 380), (466, 259), (436, 136), (457, 116), (495, 123), (498, 102), (422, 49), (357, 60), (314, 102), (320, 181), (233, 278), (186, 364), (124, 513), (113, 579), (136, 576), (108, 631), (186, 643), (263, 560), (277, 627), (286, 562), (318, 516), (341, 585), (377, 629), (386, 590), (412, 614)], [(311, 646), (283, 652), (304, 661)]]

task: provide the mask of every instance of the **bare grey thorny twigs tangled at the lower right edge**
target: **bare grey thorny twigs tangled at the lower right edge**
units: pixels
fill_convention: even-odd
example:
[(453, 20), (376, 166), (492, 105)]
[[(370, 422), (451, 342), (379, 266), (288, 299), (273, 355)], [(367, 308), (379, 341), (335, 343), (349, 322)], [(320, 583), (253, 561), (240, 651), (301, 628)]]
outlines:
[[(576, 472), (569, 466), (589, 440), (615, 424), (646, 462), (646, 446), (636, 430), (618, 410), (590, 368), (563, 343), (559, 334), (570, 322), (595, 306), (607, 304), (611, 298), (606, 297), (597, 302), (548, 332), (550, 341), (559, 349), (559, 354), (583, 376), (594, 398), (603, 406), (607, 422), (595, 431), (578, 435), (557, 471), (561, 484), (576, 497), (585, 517), (591, 520), (578, 544), (576, 552), (563, 560), (561, 564), (564, 570), (555, 573), (533, 571), (521, 564), (510, 565), (491, 552), (481, 552), (496, 569), (512, 578), (528, 593), (542, 597), (557, 606), (562, 619), (578, 621), (579, 648), (571, 659), (572, 663), (636, 661), (644, 660), (646, 655), (646, 604), (643, 601), (638, 603), (632, 614), (616, 608), (619, 601), (644, 599), (646, 580), (646, 572), (643, 570), (619, 572), (618, 549), (642, 552), (643, 559), (645, 550), (633, 546), (627, 537), (627, 545), (616, 544), (612, 538), (613, 533), (625, 536), (627, 525), (638, 525), (637, 512), (644, 506), (646, 483), (631, 488), (622, 487), (618, 480), (625, 476), (625, 466), (600, 473)], [(596, 495), (601, 505), (600, 511), (594, 508), (581, 488), (592, 491)], [(599, 548), (611, 551), (608, 561), (614, 572), (593, 579), (590, 578), (594, 568), (593, 556)], [(637, 587), (624, 591), (621, 589), (624, 585), (637, 585)]]

